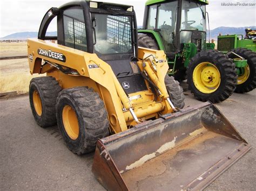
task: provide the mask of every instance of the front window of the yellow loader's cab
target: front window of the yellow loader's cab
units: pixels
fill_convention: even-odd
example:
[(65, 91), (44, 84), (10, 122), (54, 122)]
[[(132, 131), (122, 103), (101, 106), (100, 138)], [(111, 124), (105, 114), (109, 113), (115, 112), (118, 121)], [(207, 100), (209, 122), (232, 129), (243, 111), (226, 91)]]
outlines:
[(132, 53), (131, 17), (95, 14), (92, 23), (97, 53)]

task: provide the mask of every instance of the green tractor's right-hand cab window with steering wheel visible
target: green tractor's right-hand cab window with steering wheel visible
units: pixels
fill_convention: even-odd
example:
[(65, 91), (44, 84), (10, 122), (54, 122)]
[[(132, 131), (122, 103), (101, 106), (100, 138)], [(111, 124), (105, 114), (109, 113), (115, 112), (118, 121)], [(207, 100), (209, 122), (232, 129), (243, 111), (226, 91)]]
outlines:
[(183, 1), (181, 30), (206, 31), (205, 5)]

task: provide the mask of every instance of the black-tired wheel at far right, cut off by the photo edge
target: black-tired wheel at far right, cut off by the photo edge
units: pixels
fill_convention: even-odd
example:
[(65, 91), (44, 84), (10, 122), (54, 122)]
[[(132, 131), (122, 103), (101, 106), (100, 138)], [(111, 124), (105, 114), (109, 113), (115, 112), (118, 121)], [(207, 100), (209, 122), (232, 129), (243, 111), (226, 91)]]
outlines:
[(238, 76), (235, 93), (242, 94), (252, 91), (256, 87), (256, 53), (247, 48), (232, 49), (232, 52), (247, 60), (247, 67), (242, 68), (244, 74)]

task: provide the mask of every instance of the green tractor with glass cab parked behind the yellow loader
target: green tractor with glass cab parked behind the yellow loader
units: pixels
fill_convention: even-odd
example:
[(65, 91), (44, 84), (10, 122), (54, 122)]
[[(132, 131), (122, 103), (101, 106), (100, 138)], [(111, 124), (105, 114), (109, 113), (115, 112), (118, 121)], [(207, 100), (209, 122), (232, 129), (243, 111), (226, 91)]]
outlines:
[(138, 44), (165, 51), (169, 75), (179, 81), (187, 77), (198, 100), (216, 103), (233, 94), (238, 75), (232, 59), (206, 43), (207, 4), (206, 0), (148, 0)]

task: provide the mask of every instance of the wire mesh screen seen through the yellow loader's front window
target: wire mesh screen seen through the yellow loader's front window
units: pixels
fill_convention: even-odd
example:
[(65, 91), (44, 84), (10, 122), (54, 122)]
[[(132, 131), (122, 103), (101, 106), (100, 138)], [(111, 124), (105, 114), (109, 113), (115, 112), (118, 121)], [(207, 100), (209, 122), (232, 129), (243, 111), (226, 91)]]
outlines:
[(107, 16), (107, 41), (118, 44), (120, 52), (131, 49), (131, 26), (128, 17)]

